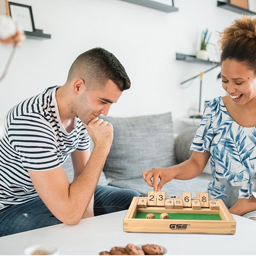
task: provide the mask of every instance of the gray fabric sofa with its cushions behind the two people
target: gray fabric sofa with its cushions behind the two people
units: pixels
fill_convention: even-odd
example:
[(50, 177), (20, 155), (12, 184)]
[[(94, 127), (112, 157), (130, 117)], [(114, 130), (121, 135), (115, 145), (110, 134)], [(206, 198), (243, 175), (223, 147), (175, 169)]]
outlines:
[[(191, 155), (189, 148), (197, 127), (189, 127), (174, 140), (170, 112), (153, 116), (102, 118), (113, 124), (114, 140), (100, 176), (100, 185), (131, 188), (145, 196), (153, 188), (142, 179), (142, 171), (172, 166)], [(72, 182), (71, 157), (63, 168), (69, 182)], [(183, 191), (190, 191), (192, 197), (196, 197), (196, 191), (206, 191), (210, 180), (211, 174), (206, 170), (192, 180), (172, 180), (164, 185), (162, 191), (166, 192), (166, 196), (182, 196)]]

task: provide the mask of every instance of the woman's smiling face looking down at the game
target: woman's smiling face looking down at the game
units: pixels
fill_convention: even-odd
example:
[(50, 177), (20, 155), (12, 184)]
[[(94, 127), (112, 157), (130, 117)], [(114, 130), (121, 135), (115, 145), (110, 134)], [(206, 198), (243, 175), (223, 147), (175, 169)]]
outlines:
[(244, 62), (223, 60), (221, 63), (222, 87), (240, 106), (256, 101), (256, 76)]

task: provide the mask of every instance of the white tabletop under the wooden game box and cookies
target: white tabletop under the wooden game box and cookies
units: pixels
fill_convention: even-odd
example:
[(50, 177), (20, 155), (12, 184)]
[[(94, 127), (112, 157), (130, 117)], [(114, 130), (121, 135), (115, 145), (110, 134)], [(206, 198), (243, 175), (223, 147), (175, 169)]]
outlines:
[(234, 235), (131, 233), (123, 231), (126, 211), (81, 220), (76, 226), (60, 224), (0, 237), (0, 254), (22, 254), (33, 244), (53, 244), (60, 254), (92, 254), (112, 246), (159, 244), (167, 254), (255, 254), (256, 221), (233, 215)]

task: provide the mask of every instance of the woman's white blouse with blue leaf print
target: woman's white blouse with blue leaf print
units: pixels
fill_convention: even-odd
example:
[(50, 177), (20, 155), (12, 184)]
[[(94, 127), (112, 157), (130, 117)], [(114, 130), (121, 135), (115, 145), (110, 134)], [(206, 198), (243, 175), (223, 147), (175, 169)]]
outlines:
[(207, 104), (190, 149), (211, 154), (212, 181), (207, 187), (211, 198), (225, 202), (232, 187), (239, 188), (238, 198), (251, 198), (256, 187), (252, 181), (256, 180), (256, 127), (237, 124), (222, 97)]

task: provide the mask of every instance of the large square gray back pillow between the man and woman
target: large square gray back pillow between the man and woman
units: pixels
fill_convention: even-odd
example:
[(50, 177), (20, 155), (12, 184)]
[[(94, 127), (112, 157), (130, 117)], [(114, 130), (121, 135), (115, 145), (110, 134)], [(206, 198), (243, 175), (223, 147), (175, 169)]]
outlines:
[(138, 117), (102, 117), (113, 124), (114, 140), (103, 171), (107, 179), (141, 177), (153, 167), (175, 164), (171, 113)]

